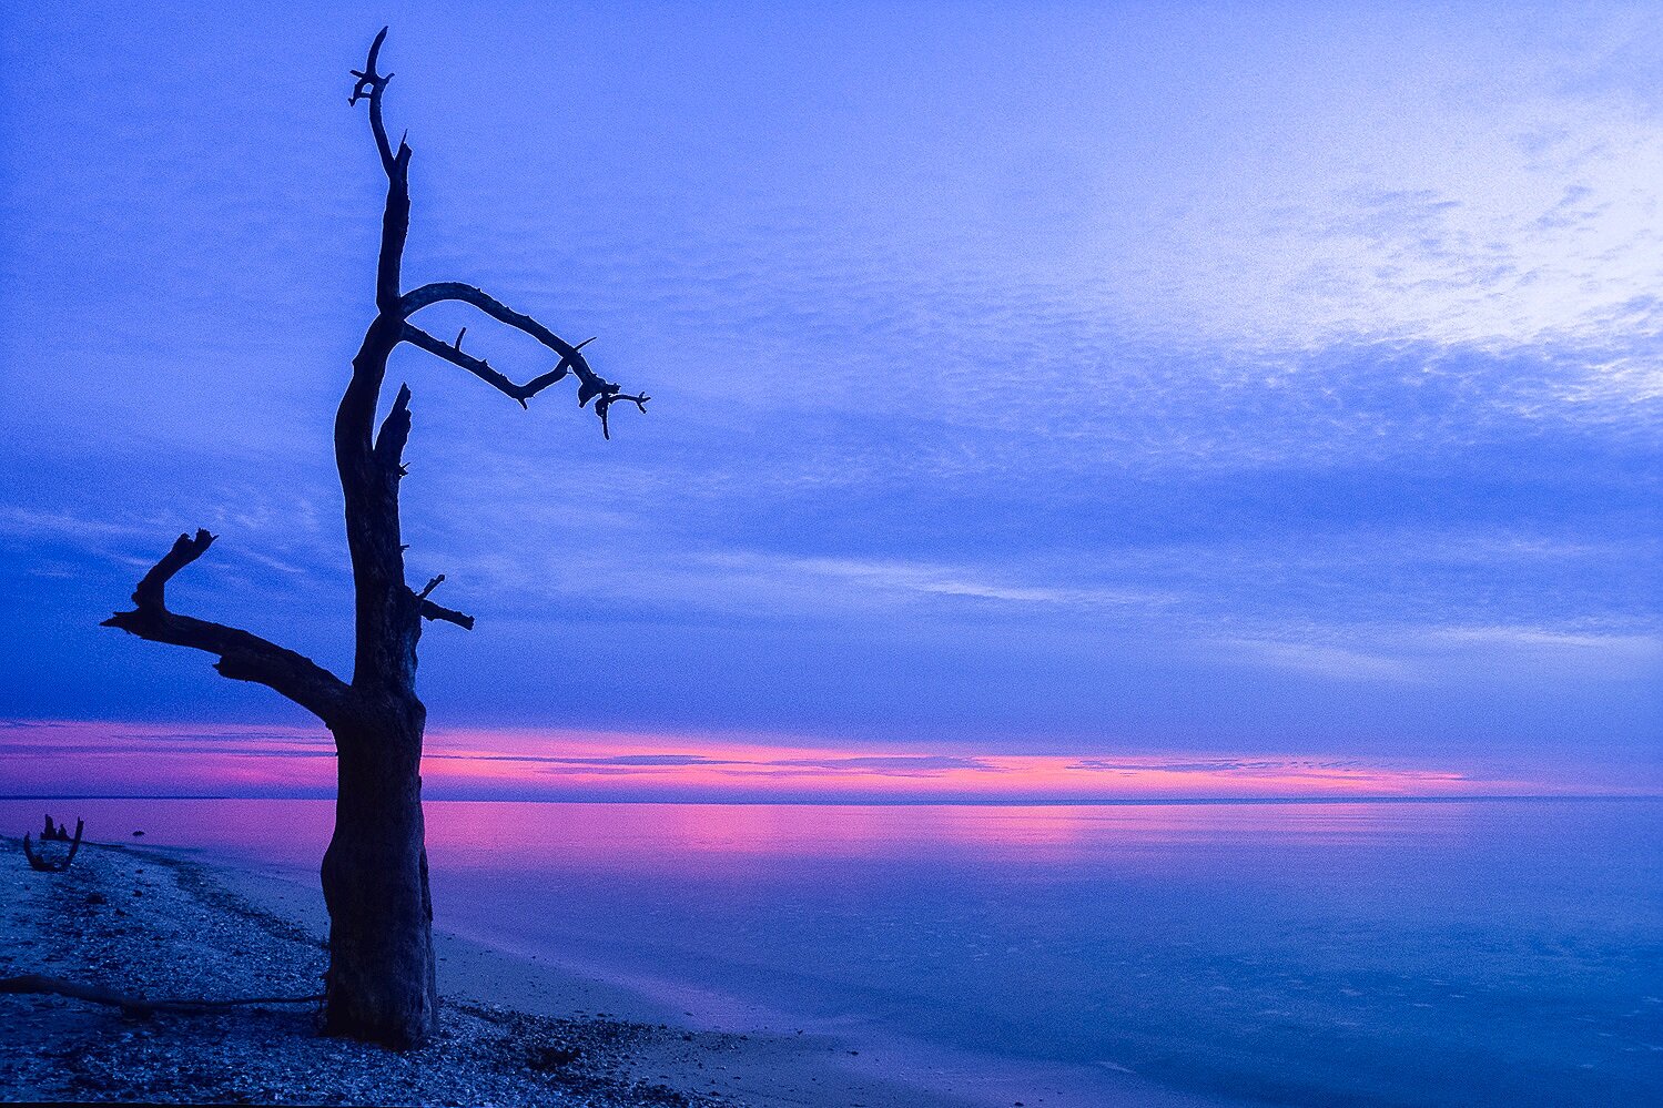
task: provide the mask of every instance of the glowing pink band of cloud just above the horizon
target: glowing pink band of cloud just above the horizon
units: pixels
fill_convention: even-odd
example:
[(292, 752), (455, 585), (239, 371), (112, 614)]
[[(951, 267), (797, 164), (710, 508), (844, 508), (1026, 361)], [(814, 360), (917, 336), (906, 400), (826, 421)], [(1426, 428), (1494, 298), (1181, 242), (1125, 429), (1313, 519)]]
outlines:
[[(313, 729), (128, 724), (10, 725), (0, 744), (15, 789), (283, 795), (326, 792), (333, 749)], [(1543, 789), (1437, 765), (1285, 755), (1039, 755), (991, 750), (763, 744), (545, 730), (429, 735), (427, 792), (437, 797), (1113, 800), (1201, 797), (1463, 795)]]

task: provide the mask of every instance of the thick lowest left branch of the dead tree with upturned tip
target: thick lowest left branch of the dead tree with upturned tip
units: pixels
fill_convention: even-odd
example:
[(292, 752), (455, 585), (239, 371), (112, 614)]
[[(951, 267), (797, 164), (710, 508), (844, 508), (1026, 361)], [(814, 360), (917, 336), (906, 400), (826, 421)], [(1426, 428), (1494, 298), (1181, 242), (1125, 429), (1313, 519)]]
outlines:
[(168, 581), (201, 557), (213, 541), (215, 536), (203, 529), (196, 531), (195, 537), (181, 534), (161, 561), (140, 579), (133, 591), (136, 607), (131, 612), (116, 612), (103, 621), (103, 626), (120, 627), (150, 642), (218, 654), (215, 669), (225, 677), (251, 680), (281, 692), (324, 722), (336, 719), (351, 690), (318, 662), (238, 627), (168, 611)]

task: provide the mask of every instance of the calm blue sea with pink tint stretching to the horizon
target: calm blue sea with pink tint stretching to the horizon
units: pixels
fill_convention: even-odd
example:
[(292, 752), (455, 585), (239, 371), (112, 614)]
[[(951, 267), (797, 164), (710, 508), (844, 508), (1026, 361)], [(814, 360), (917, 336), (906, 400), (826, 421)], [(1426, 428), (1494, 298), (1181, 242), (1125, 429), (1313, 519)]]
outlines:
[[(316, 872), (309, 800), (0, 802)], [(1663, 1103), (1663, 802), (429, 805), (439, 925), (1285, 1105)], [(687, 1003), (695, 1003), (688, 1000)]]

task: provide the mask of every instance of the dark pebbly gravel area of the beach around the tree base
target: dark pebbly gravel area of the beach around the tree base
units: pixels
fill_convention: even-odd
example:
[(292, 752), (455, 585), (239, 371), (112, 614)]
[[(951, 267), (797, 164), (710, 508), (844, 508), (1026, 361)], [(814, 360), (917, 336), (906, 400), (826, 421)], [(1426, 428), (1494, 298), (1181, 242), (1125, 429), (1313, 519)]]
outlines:
[[(201, 867), (83, 845), (67, 873), (0, 838), (0, 977), (42, 973), (146, 998), (306, 997), (328, 957)], [(718, 1033), (452, 1002), (412, 1051), (324, 1038), (316, 1003), (126, 1016), (62, 997), (0, 995), (0, 1100), (72, 1103), (687, 1106), (735, 1101), (655, 1078), (720, 1051)]]

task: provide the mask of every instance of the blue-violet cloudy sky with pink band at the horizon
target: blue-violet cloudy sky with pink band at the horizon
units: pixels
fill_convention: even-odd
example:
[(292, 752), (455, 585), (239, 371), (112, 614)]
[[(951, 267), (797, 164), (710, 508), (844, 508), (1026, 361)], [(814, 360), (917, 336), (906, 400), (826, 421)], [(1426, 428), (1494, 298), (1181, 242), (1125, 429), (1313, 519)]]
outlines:
[(0, 794), (318, 784), (96, 624), (349, 664), (382, 23), (406, 283), (654, 396), (396, 354), (456, 795), (1663, 790), (1656, 7), (1019, 7), (0, 3)]

